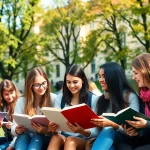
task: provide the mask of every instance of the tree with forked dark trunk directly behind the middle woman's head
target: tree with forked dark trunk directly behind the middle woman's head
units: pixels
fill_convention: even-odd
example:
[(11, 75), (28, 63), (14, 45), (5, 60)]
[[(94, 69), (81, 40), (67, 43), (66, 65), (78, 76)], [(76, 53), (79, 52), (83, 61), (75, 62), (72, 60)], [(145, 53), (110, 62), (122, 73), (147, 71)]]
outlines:
[[(62, 1), (61, 1), (62, 2)], [(43, 31), (47, 34), (45, 49), (49, 51), (66, 68), (74, 63), (85, 66), (91, 62), (94, 52), (86, 56), (86, 49), (81, 38), (83, 26), (93, 17), (88, 3), (80, 0), (56, 2), (56, 8), (47, 12)], [(85, 50), (86, 49), (86, 50)], [(84, 66), (83, 66), (84, 67)]]

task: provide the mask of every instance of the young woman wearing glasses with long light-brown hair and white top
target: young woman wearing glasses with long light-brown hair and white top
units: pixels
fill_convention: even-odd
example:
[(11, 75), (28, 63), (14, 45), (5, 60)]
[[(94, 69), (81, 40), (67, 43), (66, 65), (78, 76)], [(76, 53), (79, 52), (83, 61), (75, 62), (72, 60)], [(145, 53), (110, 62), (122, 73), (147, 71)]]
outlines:
[[(52, 106), (52, 103), (50, 83), (47, 75), (41, 68), (33, 68), (27, 74), (25, 94), (24, 97), (18, 99), (14, 113), (27, 114), (29, 116), (41, 114), (40, 108), (43, 106)], [(13, 135), (18, 135), (15, 143), (16, 150), (41, 150), (43, 140), (45, 139), (44, 134), (49, 133), (48, 128), (34, 122), (32, 122), (32, 127), (37, 134), (28, 132), (25, 127), (17, 125), (13, 121), (12, 133)]]

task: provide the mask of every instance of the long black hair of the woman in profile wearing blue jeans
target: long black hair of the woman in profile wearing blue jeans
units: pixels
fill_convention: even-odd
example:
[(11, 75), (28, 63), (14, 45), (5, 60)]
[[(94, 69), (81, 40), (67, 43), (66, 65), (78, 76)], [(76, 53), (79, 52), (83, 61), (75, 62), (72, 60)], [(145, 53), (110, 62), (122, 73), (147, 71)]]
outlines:
[[(105, 63), (100, 66), (100, 69), (104, 69), (105, 82), (108, 87), (107, 92), (109, 93), (112, 102), (112, 112), (116, 113), (125, 108), (126, 103), (123, 98), (123, 91), (127, 90), (133, 93), (135, 93), (135, 91), (130, 86), (125, 76), (125, 72), (119, 64), (115, 62)], [(104, 95), (99, 97), (97, 102), (97, 110), (99, 115), (106, 112), (109, 102), (110, 100), (106, 100)]]

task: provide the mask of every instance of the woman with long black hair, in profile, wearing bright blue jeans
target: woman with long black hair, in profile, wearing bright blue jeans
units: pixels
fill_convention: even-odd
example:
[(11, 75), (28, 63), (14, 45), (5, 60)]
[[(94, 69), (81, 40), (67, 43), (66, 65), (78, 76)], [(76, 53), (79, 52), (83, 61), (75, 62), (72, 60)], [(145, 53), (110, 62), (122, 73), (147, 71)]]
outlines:
[[(139, 111), (138, 96), (131, 88), (121, 66), (115, 62), (105, 63), (100, 66), (99, 83), (104, 94), (97, 102), (98, 115), (102, 113), (117, 113), (121, 109), (130, 106)], [(93, 144), (92, 150), (109, 150), (113, 144), (116, 131), (124, 133), (123, 128), (118, 124), (100, 116), (100, 119), (92, 119), (100, 132)]]

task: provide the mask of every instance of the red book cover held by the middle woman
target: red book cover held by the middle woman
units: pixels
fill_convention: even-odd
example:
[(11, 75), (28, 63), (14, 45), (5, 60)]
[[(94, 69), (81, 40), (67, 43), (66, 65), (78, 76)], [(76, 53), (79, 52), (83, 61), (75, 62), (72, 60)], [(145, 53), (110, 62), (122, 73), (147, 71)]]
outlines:
[(77, 122), (82, 128), (88, 129), (96, 127), (91, 123), (91, 119), (99, 119), (99, 117), (86, 104), (79, 104), (62, 109), (63, 116), (73, 125)]

